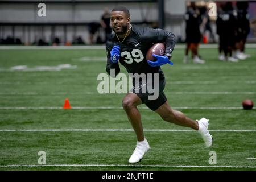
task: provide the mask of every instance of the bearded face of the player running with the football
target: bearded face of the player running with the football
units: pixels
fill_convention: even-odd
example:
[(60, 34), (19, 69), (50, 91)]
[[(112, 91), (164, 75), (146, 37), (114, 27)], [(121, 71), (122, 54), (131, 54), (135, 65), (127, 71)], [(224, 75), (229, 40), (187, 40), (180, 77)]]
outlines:
[(110, 15), (110, 26), (112, 27), (115, 34), (125, 34), (127, 28), (129, 28), (130, 17), (123, 11), (112, 11)]

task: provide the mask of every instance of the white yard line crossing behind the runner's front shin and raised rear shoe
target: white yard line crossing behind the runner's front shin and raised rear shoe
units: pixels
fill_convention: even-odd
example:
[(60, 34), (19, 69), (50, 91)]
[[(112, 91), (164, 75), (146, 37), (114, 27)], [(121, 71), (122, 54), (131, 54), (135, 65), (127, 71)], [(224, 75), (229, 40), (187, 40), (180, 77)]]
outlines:
[[(133, 131), (133, 129), (2, 129), (0, 132), (37, 132), (37, 131)], [(175, 130), (175, 129), (144, 129), (144, 131), (159, 132), (195, 132), (195, 130)], [(256, 130), (209, 130), (211, 132), (256, 132)]]

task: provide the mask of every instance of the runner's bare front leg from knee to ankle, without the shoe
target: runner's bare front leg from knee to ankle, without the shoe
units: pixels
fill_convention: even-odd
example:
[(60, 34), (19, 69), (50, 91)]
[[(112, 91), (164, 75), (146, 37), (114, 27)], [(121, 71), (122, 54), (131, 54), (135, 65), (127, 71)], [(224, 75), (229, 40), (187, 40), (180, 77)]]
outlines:
[(128, 93), (123, 98), (123, 109), (125, 110), (131, 126), (135, 131), (138, 141), (144, 140), (144, 133), (141, 122), (141, 113), (137, 108), (138, 105), (142, 104), (141, 98), (139, 98), (135, 93)]

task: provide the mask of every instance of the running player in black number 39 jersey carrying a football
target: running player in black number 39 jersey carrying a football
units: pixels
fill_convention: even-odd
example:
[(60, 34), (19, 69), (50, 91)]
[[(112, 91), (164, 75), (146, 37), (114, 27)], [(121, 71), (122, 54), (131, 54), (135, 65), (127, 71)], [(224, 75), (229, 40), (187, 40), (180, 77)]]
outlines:
[[(151, 110), (155, 111), (164, 119), (177, 125), (191, 127), (198, 130), (202, 135), (207, 147), (212, 145), (212, 136), (208, 131), (208, 119), (202, 118), (200, 121), (193, 121), (185, 117), (180, 111), (171, 109), (167, 98), (163, 92), (165, 78), (160, 65), (171, 64), (171, 55), (175, 45), (175, 35), (161, 29), (141, 28), (132, 26), (130, 23), (130, 13), (126, 7), (115, 7), (110, 15), (110, 26), (113, 34), (106, 42), (107, 64), (106, 71), (110, 76), (117, 76), (120, 72), (119, 64), (122, 64), (128, 73), (143, 74), (152, 73), (158, 75), (159, 94), (158, 98), (150, 100), (149, 92), (141, 92), (142, 88), (148, 84), (142, 84), (142, 80), (137, 82), (133, 79), (134, 88), (123, 98), (122, 106), (133, 126), (137, 135), (137, 146), (129, 159), (129, 163), (137, 163), (143, 155), (150, 149), (144, 138), (141, 114), (137, 109), (138, 105), (146, 104)], [(146, 60), (146, 53), (154, 43), (163, 42), (166, 45), (165, 55), (156, 55), (156, 61)], [(114, 75), (111, 73), (114, 70)], [(151, 78), (154, 80), (154, 78)], [(136, 79), (135, 79), (136, 80)], [(137, 88), (139, 92), (137, 92)]]

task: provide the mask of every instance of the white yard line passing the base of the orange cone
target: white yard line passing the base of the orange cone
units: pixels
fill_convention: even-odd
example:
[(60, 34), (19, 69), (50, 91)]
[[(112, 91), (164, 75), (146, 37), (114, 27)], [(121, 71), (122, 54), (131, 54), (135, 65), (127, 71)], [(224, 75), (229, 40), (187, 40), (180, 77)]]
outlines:
[[(61, 110), (63, 107), (0, 107), (0, 110)], [(122, 110), (123, 107), (72, 107), (73, 110)], [(148, 109), (148, 107), (139, 107)], [(172, 107), (172, 109), (195, 109), (195, 110), (242, 110), (242, 107)], [(253, 108), (255, 109), (255, 108)]]

